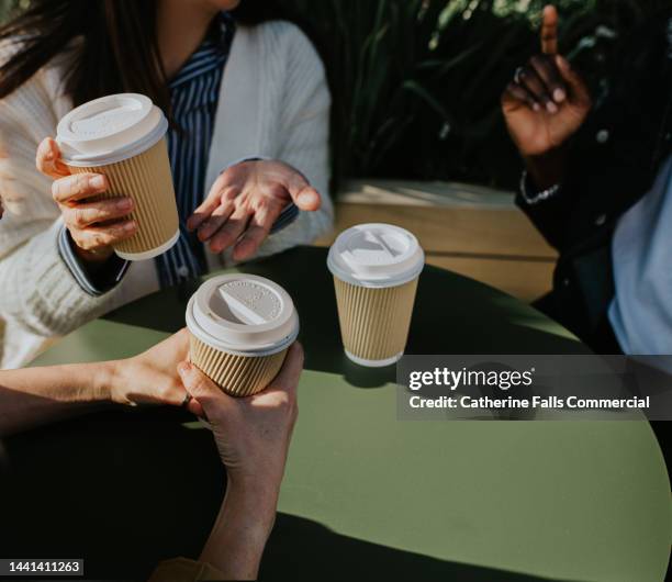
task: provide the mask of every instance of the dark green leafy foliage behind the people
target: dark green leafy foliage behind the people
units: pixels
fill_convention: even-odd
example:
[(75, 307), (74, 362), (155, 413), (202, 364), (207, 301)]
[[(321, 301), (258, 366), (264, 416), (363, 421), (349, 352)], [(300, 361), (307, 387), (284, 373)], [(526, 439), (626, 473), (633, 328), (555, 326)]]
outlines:
[[(325, 59), (338, 176), (514, 186), (500, 94), (538, 51), (546, 0), (280, 1)], [(598, 91), (618, 37), (669, 1), (556, 0), (561, 49)]]

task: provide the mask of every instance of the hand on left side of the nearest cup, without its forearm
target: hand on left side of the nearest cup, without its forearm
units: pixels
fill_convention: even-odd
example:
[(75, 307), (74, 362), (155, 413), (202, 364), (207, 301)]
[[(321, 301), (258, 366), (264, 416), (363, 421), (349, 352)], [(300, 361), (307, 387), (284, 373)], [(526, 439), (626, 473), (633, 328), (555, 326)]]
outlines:
[[(188, 352), (189, 333), (182, 329), (139, 356), (110, 362), (110, 400), (116, 404), (181, 406), (187, 391), (176, 366), (187, 358)], [(203, 414), (198, 402), (189, 402), (188, 408), (193, 414)]]

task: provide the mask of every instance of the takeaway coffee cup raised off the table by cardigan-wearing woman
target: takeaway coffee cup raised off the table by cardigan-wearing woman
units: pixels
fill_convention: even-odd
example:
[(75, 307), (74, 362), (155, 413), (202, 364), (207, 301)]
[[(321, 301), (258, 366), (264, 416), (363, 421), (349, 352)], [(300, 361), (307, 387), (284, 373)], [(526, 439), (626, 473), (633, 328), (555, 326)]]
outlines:
[(70, 171), (104, 174), (110, 189), (101, 199), (133, 199), (138, 231), (114, 247), (123, 259), (157, 257), (179, 238), (167, 130), (161, 110), (135, 93), (96, 99), (58, 124), (56, 139)]

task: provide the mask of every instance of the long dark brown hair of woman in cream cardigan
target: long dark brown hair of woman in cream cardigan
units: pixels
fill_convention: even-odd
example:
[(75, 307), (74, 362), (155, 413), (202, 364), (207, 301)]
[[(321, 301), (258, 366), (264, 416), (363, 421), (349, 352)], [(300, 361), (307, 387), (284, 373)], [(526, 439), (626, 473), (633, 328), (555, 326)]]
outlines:
[[(20, 43), (14, 56), (0, 66), (0, 99), (80, 38), (63, 79), (75, 105), (105, 94), (137, 92), (169, 113), (157, 5), (158, 0), (32, 0), (26, 11), (0, 26), (0, 43)], [(273, 0), (243, 0), (233, 14), (248, 25), (289, 18)]]

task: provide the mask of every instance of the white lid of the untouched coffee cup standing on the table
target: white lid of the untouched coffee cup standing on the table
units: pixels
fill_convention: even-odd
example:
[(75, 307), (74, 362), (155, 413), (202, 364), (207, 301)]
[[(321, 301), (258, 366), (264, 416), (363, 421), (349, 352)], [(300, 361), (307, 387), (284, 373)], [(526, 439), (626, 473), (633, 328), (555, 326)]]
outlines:
[(360, 224), (341, 233), (327, 258), (340, 280), (359, 287), (396, 287), (422, 272), (425, 253), (417, 238), (391, 224)]

